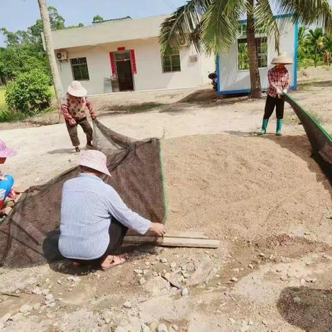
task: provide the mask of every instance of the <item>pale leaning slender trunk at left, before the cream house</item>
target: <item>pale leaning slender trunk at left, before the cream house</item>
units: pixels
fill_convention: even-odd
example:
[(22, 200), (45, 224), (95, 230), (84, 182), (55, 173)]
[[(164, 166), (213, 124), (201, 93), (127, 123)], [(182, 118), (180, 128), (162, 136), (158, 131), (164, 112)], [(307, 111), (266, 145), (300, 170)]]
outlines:
[(38, 4), (39, 4), (40, 16), (42, 17), (43, 21), (46, 53), (50, 61), (50, 71), (53, 77), (55, 95), (57, 98), (57, 109), (59, 111), (62, 100), (62, 84), (59, 77), (59, 72), (57, 71), (57, 60), (55, 59), (55, 54), (53, 49), (52, 34), (50, 31), (50, 17), (48, 16), (48, 8), (46, 0), (38, 0)]

